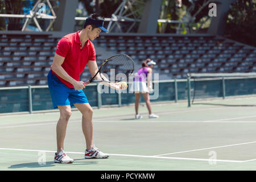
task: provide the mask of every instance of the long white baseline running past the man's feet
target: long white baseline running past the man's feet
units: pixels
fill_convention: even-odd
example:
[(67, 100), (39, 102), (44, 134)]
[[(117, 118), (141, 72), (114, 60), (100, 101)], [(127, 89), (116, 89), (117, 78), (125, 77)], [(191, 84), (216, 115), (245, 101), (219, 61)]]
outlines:
[[(56, 152), (48, 150), (28, 150), (28, 149), (18, 149), (18, 148), (0, 148), (0, 150), (14, 150), (14, 151), (32, 151), (32, 152)], [(69, 154), (82, 154), (84, 152), (68, 152)], [(208, 162), (231, 162), (231, 163), (242, 163), (242, 160), (221, 160), (221, 159), (196, 159), (196, 158), (170, 158), (161, 156), (150, 156), (150, 155), (127, 155), (127, 154), (109, 154), (110, 156), (129, 156), (134, 158), (155, 158), (155, 159), (177, 159), (177, 160), (199, 160)]]

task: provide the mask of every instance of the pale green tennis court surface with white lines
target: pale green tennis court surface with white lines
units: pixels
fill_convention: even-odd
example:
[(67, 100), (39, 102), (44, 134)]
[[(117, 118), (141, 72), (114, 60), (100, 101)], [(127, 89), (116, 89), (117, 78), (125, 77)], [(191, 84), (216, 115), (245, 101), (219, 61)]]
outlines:
[[(226, 105), (218, 105), (218, 102)], [(0, 170), (255, 170), (256, 97), (152, 104), (160, 115), (134, 119), (134, 107), (94, 109), (94, 143), (109, 159), (84, 159), (81, 114), (73, 110), (65, 151), (73, 164), (53, 163), (59, 113), (0, 115)]]

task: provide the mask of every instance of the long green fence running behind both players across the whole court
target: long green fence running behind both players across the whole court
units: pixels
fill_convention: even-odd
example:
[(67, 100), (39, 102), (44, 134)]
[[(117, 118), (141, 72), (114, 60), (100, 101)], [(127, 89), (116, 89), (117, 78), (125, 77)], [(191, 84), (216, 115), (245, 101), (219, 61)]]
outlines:
[[(196, 81), (188, 78), (188, 80), (162, 80), (157, 83), (158, 97), (151, 102), (188, 100), (188, 106), (190, 106), (192, 96), (195, 98), (225, 98), (256, 94), (256, 78), (205, 78)], [(98, 84), (87, 85), (84, 89), (92, 107), (126, 106), (135, 102), (133, 93), (115, 90), (100, 93), (97, 90)], [(144, 102), (143, 97), (141, 102)], [(52, 101), (47, 85), (0, 88), (0, 113), (33, 113), (33, 111), (51, 109), (53, 109)]]

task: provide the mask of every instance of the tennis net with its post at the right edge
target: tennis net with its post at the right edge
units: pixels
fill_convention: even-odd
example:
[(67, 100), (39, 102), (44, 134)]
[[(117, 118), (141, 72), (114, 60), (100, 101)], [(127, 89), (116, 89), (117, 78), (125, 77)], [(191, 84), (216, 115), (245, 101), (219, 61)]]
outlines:
[[(188, 106), (210, 104), (202, 101), (218, 99), (212, 105), (256, 106), (256, 103), (226, 98), (256, 97), (256, 73), (190, 73), (187, 75)], [(255, 95), (254, 95), (255, 94)]]

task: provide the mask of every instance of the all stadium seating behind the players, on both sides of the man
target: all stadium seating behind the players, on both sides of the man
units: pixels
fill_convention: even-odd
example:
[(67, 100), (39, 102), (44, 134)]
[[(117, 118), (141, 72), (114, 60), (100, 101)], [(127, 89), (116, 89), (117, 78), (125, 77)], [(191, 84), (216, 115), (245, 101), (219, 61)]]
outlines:
[[(50, 34), (0, 34), (0, 86), (46, 85), (59, 39)], [(93, 43), (96, 50), (101, 47), (125, 53), (137, 65), (151, 58), (158, 63), (155, 72), (168, 78), (185, 78), (187, 73), (256, 71), (255, 48), (213, 35), (102, 34)], [(97, 52), (99, 65), (107, 58), (101, 54)], [(90, 73), (84, 72), (81, 79), (88, 77)]]

